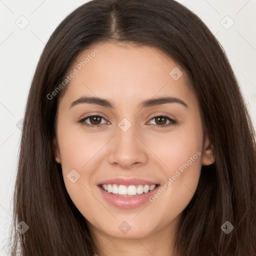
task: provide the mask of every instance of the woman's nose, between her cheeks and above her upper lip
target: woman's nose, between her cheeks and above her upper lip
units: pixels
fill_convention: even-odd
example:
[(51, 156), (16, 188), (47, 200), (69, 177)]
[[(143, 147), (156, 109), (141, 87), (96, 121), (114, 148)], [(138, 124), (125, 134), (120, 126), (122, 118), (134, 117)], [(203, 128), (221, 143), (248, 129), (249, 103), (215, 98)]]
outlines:
[(126, 131), (117, 126), (116, 133), (111, 141), (109, 162), (113, 165), (119, 165), (123, 169), (145, 164), (147, 161), (146, 146), (136, 131), (135, 125), (131, 125)]

